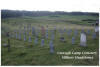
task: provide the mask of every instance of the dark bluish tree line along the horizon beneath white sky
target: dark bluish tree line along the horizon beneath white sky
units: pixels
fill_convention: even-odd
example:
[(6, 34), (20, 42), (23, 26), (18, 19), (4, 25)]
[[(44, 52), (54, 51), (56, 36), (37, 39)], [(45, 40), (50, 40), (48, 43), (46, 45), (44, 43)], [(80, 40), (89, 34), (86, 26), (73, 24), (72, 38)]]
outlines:
[(19, 10), (1, 10), (1, 18), (11, 17), (38, 17), (38, 16), (56, 16), (56, 15), (91, 15), (99, 16), (99, 13), (92, 12), (64, 12), (64, 11), (19, 11)]

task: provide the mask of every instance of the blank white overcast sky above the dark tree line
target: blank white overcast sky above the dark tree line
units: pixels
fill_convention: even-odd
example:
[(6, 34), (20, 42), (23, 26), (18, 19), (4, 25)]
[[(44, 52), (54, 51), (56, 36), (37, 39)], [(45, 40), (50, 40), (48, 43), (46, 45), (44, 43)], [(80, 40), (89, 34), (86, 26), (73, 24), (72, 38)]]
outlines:
[(1, 9), (99, 12), (99, 0), (1, 0)]

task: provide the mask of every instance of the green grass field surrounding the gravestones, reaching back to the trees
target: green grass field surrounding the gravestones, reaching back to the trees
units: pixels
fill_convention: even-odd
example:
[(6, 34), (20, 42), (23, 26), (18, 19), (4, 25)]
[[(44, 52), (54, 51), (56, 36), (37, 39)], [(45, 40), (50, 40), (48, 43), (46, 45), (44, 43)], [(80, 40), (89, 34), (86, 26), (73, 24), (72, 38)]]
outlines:
[[(88, 15), (58, 15), (58, 16), (41, 16), (41, 17), (21, 17), (21, 18), (6, 18), (2, 19), (1, 23), (1, 65), (99, 65), (99, 37), (92, 39), (92, 33), (94, 27), (90, 21), (82, 21), (85, 19), (98, 20), (96, 16)], [(47, 29), (49, 38), (44, 39), (45, 44), (41, 47), (41, 32), (39, 32), (38, 44), (34, 44), (35, 36), (31, 34), (32, 42), (24, 42), (23, 35), (21, 40), (15, 37), (10, 37), (11, 51), (8, 52), (7, 47), (3, 47), (3, 44), (7, 43), (7, 37), (5, 32), (13, 32), (14, 30), (21, 30), (23, 34), (24, 26), (31, 24), (36, 30), (40, 30), (41, 26)], [(56, 34), (53, 41), (54, 54), (50, 54), (49, 41), (51, 38), (51, 31), (56, 26)], [(72, 33), (68, 36), (67, 32), (64, 32), (66, 42), (60, 42), (59, 29), (68, 31), (72, 30)], [(74, 30), (78, 30), (78, 35), (75, 37), (75, 44), (72, 45), (72, 37), (74, 36)], [(80, 46), (80, 32), (84, 29), (85, 32), (90, 30), (90, 34), (87, 34), (87, 46)], [(93, 59), (62, 59), (62, 55), (58, 55), (57, 52), (97, 52), (93, 55), (76, 55), (76, 56), (93, 56)], [(67, 55), (74, 56), (74, 55)]]

